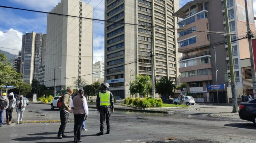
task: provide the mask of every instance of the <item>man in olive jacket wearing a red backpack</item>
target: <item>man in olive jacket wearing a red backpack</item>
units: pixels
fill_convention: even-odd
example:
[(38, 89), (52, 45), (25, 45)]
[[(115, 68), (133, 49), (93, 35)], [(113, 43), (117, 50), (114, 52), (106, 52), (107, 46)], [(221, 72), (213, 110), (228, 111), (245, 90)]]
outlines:
[(65, 127), (68, 121), (68, 116), (71, 111), (71, 101), (73, 94), (73, 89), (68, 88), (67, 93), (65, 93), (62, 97), (62, 106), (60, 107), (60, 127), (58, 131), (58, 139), (62, 139), (62, 137), (67, 137), (67, 135), (64, 134)]

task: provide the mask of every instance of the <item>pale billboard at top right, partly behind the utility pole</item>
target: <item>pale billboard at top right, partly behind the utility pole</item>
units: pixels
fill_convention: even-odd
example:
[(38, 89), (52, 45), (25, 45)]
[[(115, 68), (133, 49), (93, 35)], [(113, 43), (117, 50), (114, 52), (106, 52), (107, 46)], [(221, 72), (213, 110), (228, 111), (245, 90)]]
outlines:
[[(246, 22), (244, 0), (236, 0), (236, 9), (237, 9), (238, 21)], [(253, 24), (254, 23), (254, 14), (253, 14), (252, 0), (247, 0), (247, 9), (248, 9), (249, 23)]]

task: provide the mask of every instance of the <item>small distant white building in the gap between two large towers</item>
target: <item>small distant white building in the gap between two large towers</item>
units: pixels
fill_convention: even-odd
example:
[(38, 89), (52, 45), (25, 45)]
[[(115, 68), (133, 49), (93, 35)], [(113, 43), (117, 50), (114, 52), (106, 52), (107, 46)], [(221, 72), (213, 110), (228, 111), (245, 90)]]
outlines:
[(98, 61), (92, 65), (92, 80), (93, 82), (98, 81), (99, 79), (103, 78), (105, 74), (105, 65), (104, 62)]

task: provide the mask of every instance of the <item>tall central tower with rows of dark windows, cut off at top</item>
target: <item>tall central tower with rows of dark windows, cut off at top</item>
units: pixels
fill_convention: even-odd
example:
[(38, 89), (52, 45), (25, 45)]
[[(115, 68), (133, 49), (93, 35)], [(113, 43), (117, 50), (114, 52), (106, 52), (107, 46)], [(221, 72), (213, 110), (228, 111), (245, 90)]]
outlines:
[(138, 75), (145, 75), (146, 70), (151, 76), (150, 31), (153, 32), (156, 82), (167, 76), (177, 83), (177, 46), (173, 30), (176, 19), (173, 14), (178, 8), (178, 0), (105, 1), (105, 20), (141, 25), (105, 23), (105, 81), (110, 84), (113, 95), (130, 97), (129, 82)]

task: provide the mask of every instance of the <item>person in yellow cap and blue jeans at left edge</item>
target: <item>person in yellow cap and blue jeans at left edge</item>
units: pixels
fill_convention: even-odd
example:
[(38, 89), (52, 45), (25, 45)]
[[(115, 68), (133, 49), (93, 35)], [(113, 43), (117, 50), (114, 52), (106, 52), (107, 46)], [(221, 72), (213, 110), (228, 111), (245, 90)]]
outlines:
[(9, 106), (9, 100), (6, 98), (6, 93), (2, 93), (0, 97), (0, 127), (4, 124), (5, 109)]

